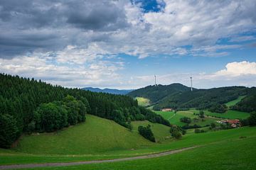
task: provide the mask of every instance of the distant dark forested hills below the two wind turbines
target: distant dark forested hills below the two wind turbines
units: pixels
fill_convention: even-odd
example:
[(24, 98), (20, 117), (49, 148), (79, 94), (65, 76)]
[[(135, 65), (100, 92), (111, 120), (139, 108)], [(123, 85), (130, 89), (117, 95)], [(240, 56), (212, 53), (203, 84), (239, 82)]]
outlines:
[[(221, 108), (224, 103), (233, 101), (239, 96), (245, 96), (233, 109), (238, 111), (256, 111), (255, 88), (245, 86), (229, 86), (213, 89), (193, 89), (191, 91), (182, 84), (170, 84), (168, 86), (146, 86), (128, 94), (132, 97), (148, 98), (155, 110), (161, 108), (175, 108), (186, 110), (187, 108)], [(223, 110), (224, 111), (224, 110)], [(219, 111), (221, 112), (221, 111)]]

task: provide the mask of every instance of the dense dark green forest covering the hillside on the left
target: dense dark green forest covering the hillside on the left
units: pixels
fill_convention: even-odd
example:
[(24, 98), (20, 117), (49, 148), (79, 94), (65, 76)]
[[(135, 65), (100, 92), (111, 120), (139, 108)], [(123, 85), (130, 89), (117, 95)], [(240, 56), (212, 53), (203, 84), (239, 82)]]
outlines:
[(75, 125), (85, 121), (85, 113), (114, 120), (126, 128), (131, 128), (131, 120), (170, 125), (129, 96), (0, 74), (0, 147), (9, 147), (22, 132), (51, 132)]

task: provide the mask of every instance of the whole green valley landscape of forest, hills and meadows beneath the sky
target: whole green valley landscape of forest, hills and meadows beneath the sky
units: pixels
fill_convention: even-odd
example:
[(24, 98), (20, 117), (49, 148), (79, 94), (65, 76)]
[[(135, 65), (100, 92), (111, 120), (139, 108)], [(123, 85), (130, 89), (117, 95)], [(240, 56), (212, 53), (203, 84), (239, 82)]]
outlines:
[[(222, 169), (251, 169), (255, 166), (254, 112), (235, 110), (240, 103), (254, 97), (254, 89), (229, 87), (230, 96), (246, 95), (226, 97), (230, 101), (225, 103), (221, 103), (223, 99), (216, 92), (223, 91), (223, 88), (214, 90), (217, 96), (206, 92), (204, 98), (219, 98), (221, 104), (217, 104), (227, 106), (223, 107), (223, 113), (218, 113), (218, 109), (212, 111), (215, 104), (200, 108), (190, 100), (186, 105), (154, 111), (161, 101), (171, 97), (170, 94), (164, 95), (166, 86), (161, 86), (161, 91), (165, 91), (160, 95), (163, 99), (156, 92), (151, 94), (159, 88), (157, 86), (146, 90), (151, 99), (144, 95), (131, 98), (64, 89), (4, 74), (0, 76), (3, 80), (0, 169), (183, 169), (185, 166), (191, 169), (206, 169), (208, 166), (214, 169), (218, 166)], [(13, 84), (11, 89), (8, 82)], [(167, 87), (178, 103), (183, 100), (183, 94), (191, 93), (180, 84)], [(31, 88), (33, 92), (29, 90)], [(24, 103), (20, 93), (35, 102)], [(36, 97), (33, 93), (44, 97)], [(198, 94), (191, 95), (196, 102), (201, 98)], [(158, 101), (154, 101), (154, 96)], [(253, 106), (250, 109), (254, 109)], [(19, 111), (18, 114), (15, 111)], [(222, 120), (237, 119), (240, 124), (235, 128), (221, 123)], [(13, 129), (4, 121), (10, 121)], [(143, 128), (144, 131), (140, 131)], [(10, 136), (4, 132), (15, 134), (15, 140), (10, 141)], [(154, 137), (153, 142), (149, 135)]]

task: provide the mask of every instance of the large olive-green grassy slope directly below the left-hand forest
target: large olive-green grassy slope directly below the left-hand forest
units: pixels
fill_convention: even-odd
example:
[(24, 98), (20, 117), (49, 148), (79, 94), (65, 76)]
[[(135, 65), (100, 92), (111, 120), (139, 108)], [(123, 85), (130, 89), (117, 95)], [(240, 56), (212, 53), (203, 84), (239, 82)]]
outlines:
[(87, 115), (85, 123), (66, 130), (24, 136), (15, 150), (32, 154), (94, 154), (142, 145), (151, 142), (112, 120)]

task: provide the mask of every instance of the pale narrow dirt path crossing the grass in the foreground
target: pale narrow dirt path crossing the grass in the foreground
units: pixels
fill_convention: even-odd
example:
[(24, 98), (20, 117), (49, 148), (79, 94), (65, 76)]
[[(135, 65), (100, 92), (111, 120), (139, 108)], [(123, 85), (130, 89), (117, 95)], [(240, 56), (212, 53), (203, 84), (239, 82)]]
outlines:
[(193, 149), (196, 147), (186, 147), (183, 149), (176, 149), (171, 150), (168, 152), (160, 152), (158, 154), (147, 154), (144, 156), (139, 157), (127, 157), (127, 158), (120, 158), (120, 159), (109, 159), (109, 160), (98, 160), (98, 161), (87, 161), (87, 162), (65, 162), (65, 163), (44, 163), (44, 164), (13, 164), (13, 165), (1, 165), (0, 169), (28, 169), (28, 168), (36, 168), (36, 167), (49, 167), (49, 166), (72, 166), (72, 165), (81, 165), (81, 164), (100, 164), (104, 162), (122, 162), (122, 161), (129, 161), (135, 159), (147, 159), (147, 158), (154, 158), (154, 157), (162, 157), (169, 154), (175, 154), (178, 152), (182, 152), (188, 149)]

